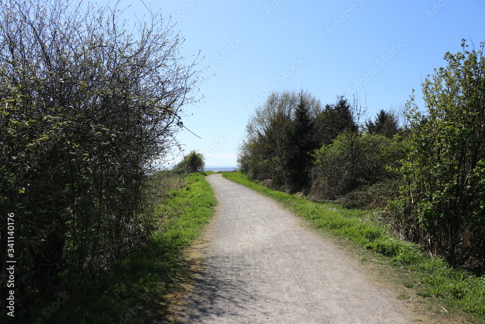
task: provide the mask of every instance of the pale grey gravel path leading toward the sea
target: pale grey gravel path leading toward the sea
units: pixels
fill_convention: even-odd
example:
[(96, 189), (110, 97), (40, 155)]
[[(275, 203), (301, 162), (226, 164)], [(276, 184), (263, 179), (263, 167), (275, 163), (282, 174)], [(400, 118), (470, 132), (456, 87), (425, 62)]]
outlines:
[(271, 198), (207, 180), (219, 206), (185, 323), (410, 323), (338, 247)]

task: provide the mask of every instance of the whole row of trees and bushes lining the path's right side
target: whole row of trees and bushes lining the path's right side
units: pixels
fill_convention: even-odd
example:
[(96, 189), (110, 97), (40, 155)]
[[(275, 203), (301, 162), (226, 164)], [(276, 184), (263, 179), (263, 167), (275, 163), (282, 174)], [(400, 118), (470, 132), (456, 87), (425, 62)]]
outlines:
[(247, 122), (240, 170), (286, 193), (379, 209), (395, 237), (485, 275), (484, 44), (461, 46), (425, 79), (425, 106), (411, 94), (402, 116), (368, 118), (358, 98), (323, 106), (305, 91), (272, 93)]

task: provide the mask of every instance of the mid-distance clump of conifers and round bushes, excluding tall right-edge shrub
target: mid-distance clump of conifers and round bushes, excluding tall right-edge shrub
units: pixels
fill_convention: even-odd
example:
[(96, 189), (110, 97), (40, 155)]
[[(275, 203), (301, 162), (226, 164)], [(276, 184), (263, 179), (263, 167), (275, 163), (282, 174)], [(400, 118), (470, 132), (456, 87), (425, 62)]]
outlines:
[[(241, 171), (254, 180), (271, 179), (273, 188), (311, 192), (318, 199), (333, 200), (358, 189), (362, 199), (350, 195), (345, 200), (358, 206), (369, 201), (365, 196), (371, 192), (364, 191), (380, 190), (380, 201), (367, 206), (385, 204), (394, 195), (383, 190), (397, 187), (395, 169), (404, 158), (402, 139), (390, 136), (397, 131), (396, 118), (381, 112), (375, 121), (379, 129), (362, 135), (359, 102), (337, 99), (322, 110), (302, 91), (273, 93), (247, 123), (239, 148)], [(354, 198), (359, 202), (349, 202)]]

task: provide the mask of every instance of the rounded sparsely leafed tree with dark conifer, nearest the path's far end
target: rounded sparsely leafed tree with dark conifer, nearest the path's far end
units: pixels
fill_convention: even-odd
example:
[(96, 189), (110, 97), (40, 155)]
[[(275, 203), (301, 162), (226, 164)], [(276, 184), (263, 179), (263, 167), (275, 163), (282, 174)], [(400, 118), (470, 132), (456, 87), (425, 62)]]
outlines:
[(287, 190), (301, 188), (305, 183), (292, 183), (292, 167), (308, 168), (307, 152), (314, 147), (312, 120), (320, 112), (320, 101), (303, 91), (270, 94), (246, 124), (238, 153), (241, 171), (252, 179), (272, 179)]

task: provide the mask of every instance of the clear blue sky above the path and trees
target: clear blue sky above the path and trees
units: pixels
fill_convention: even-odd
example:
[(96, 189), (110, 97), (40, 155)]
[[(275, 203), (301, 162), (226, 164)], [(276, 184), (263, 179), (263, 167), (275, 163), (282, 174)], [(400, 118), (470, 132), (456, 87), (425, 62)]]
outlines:
[[(485, 41), (485, 1), (163, 0), (149, 2), (177, 21), (182, 53), (201, 51), (199, 68), (215, 76), (200, 85), (204, 99), (178, 134), (186, 153), (206, 165), (235, 165), (237, 147), (255, 104), (272, 90), (304, 89), (322, 104), (352, 94), (370, 117), (399, 108), (414, 88), (445, 66), (461, 39)], [(138, 0), (128, 13), (143, 12)], [(471, 43), (469, 42), (471, 45)], [(357, 91), (356, 91), (357, 90)]]

